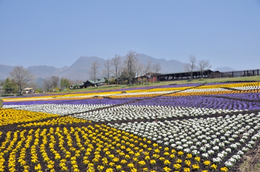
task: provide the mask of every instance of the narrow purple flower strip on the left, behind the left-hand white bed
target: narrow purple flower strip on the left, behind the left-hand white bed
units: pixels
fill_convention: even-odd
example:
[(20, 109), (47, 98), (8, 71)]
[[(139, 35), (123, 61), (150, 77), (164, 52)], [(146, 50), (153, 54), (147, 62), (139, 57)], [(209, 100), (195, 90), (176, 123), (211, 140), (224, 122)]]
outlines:
[(81, 100), (50, 100), (50, 101), (23, 101), (3, 102), (4, 105), (33, 105), (33, 104), (121, 104), (133, 101), (132, 99), (81, 99)]

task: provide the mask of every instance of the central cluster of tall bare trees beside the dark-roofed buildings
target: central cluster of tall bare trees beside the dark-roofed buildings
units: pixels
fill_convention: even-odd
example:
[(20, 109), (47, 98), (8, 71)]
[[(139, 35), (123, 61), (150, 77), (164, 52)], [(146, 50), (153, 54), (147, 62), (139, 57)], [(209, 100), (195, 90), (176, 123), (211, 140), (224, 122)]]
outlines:
[[(131, 50), (127, 52), (126, 58), (124, 60), (122, 60), (121, 55), (115, 54), (114, 58), (108, 58), (103, 64), (99, 64), (97, 61), (95, 61), (92, 63), (89, 71), (90, 78), (94, 81), (94, 84), (96, 84), (96, 80), (100, 75), (108, 78), (108, 85), (110, 84), (112, 75), (115, 76), (117, 85), (132, 85), (132, 80), (135, 80), (135, 83), (147, 83), (149, 77), (152, 75), (158, 75), (162, 69), (161, 64), (158, 63), (151, 65), (151, 61), (143, 64), (137, 58), (138, 55), (139, 54), (136, 51)], [(100, 67), (103, 67), (103, 69), (100, 70)], [(138, 76), (140, 76), (139, 79)]]

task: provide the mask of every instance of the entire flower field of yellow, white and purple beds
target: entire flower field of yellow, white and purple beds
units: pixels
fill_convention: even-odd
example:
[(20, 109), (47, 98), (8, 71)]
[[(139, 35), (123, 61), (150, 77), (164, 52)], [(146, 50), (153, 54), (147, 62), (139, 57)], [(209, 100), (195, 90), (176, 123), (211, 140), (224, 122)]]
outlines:
[(259, 82), (4, 98), (0, 171), (237, 171), (260, 141)]

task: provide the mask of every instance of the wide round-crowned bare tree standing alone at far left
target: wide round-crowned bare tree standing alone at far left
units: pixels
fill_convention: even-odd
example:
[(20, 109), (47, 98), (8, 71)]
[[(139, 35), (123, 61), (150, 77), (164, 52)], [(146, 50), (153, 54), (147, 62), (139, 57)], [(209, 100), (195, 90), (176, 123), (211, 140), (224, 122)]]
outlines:
[(15, 66), (9, 74), (11, 79), (18, 85), (19, 94), (22, 94), (22, 90), (35, 78), (34, 75), (23, 66)]

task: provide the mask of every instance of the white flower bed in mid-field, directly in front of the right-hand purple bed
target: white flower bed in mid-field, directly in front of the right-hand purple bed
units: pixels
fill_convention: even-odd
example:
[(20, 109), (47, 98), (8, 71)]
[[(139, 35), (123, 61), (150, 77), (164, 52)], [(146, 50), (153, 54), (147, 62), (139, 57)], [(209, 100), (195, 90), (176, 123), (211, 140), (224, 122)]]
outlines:
[(209, 116), (215, 113), (227, 113), (230, 110), (222, 109), (207, 109), (193, 107), (173, 107), (173, 106), (138, 106), (138, 105), (122, 105), (111, 107), (93, 112), (84, 112), (75, 114), (73, 117), (91, 121), (122, 121), (122, 120), (137, 120), (137, 119), (167, 119), (167, 118), (182, 118), (195, 116)]

